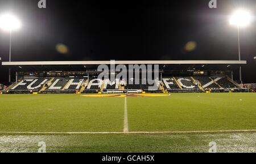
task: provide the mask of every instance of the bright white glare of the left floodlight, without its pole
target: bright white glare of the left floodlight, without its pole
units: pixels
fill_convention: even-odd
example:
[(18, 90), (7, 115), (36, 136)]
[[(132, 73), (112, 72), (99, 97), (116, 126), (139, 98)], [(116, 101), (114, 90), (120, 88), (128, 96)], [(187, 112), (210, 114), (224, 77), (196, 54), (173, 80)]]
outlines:
[(4, 14), (0, 16), (0, 28), (5, 31), (14, 31), (21, 26), (20, 21), (14, 15)]

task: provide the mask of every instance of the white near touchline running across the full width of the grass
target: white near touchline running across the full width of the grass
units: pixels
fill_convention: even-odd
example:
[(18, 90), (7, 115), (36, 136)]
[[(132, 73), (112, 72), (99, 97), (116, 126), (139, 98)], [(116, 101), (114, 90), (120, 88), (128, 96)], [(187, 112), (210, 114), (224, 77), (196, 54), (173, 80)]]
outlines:
[(28, 135), (39, 135), (39, 134), (63, 134), (63, 135), (75, 135), (75, 134), (154, 134), (154, 133), (170, 133), (170, 134), (182, 134), (182, 133), (229, 133), (229, 132), (256, 132), (256, 130), (222, 130), (222, 131), (163, 131), (163, 132), (0, 132), (1, 134), (28, 134)]

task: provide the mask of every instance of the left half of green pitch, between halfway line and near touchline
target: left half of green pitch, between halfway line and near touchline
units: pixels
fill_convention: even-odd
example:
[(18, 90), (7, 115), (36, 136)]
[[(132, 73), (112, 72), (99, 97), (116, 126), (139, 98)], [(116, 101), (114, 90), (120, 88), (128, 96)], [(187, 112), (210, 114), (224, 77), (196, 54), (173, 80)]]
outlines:
[(123, 98), (120, 97), (1, 94), (0, 113), (3, 132), (123, 131)]

